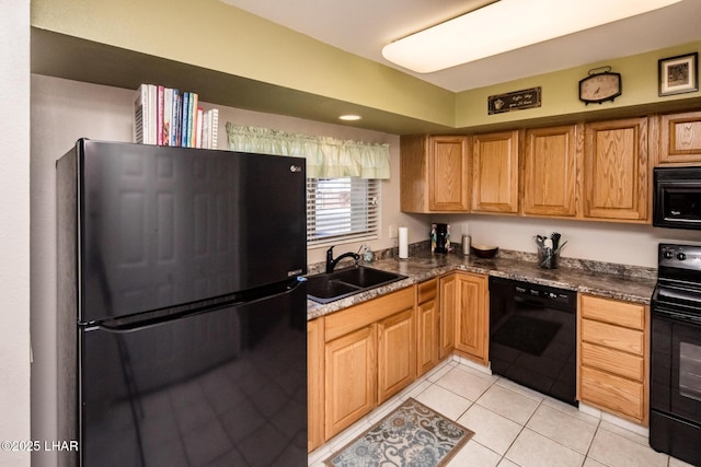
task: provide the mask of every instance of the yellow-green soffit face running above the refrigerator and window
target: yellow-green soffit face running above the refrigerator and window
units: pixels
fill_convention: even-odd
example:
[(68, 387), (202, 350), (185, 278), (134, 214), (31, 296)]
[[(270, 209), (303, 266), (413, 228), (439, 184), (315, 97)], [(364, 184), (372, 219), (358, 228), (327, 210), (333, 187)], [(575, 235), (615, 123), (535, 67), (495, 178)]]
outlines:
[[(218, 0), (33, 0), (32, 25), (397, 115), (453, 120), (452, 93)], [(197, 34), (173, 34), (193, 26)]]

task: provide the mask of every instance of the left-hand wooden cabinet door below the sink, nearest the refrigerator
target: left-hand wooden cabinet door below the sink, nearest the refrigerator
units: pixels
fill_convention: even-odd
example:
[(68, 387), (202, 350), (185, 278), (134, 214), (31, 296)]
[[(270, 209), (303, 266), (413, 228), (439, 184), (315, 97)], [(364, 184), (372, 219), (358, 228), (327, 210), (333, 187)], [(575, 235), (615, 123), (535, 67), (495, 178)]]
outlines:
[(376, 325), (325, 345), (325, 439), (336, 435), (376, 406)]

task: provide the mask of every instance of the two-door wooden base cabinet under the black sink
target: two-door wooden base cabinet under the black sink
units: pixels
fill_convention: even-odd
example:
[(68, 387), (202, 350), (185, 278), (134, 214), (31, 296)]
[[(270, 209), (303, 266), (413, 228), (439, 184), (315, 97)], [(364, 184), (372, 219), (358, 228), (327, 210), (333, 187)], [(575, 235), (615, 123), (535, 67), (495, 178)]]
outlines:
[(324, 441), (416, 377), (415, 287), (323, 319)]

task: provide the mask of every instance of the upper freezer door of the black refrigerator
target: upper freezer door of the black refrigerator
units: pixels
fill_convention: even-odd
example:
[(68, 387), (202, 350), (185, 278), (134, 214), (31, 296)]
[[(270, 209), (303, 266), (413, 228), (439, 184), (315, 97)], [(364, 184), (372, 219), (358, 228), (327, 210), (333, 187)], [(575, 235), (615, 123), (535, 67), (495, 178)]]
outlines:
[(82, 323), (307, 270), (304, 160), (81, 140)]

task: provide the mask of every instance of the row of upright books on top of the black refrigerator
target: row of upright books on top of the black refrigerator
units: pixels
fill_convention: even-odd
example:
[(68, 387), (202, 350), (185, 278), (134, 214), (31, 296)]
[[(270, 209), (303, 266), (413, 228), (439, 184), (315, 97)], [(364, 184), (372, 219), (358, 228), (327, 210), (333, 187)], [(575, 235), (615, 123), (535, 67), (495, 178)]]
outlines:
[(134, 142), (217, 149), (219, 110), (205, 110), (197, 93), (141, 84), (134, 101)]

